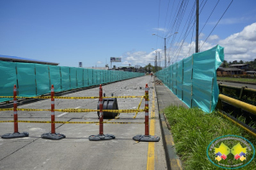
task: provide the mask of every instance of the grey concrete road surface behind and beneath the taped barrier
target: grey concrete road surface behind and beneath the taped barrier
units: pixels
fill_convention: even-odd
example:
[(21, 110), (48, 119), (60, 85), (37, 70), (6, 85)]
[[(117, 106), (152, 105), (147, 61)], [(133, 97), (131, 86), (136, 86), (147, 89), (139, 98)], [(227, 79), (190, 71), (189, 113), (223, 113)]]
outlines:
[[(150, 134), (161, 137), (157, 100), (155, 99), (153, 77), (138, 77), (102, 86), (106, 96), (144, 95), (145, 84), (149, 87)], [(98, 96), (99, 88), (90, 88), (66, 96)], [(137, 109), (141, 99), (118, 99), (119, 109)], [(98, 99), (55, 99), (55, 109), (96, 109)], [(18, 108), (50, 109), (50, 99), (41, 100)], [(144, 108), (144, 99), (141, 105)], [(120, 113), (119, 119), (108, 122), (144, 122), (145, 113)], [(19, 120), (50, 121), (50, 111), (18, 111)], [(0, 120), (13, 120), (13, 111), (0, 111)], [(55, 112), (55, 121), (97, 122), (96, 112)], [(150, 144), (135, 142), (132, 137), (145, 133), (144, 124), (104, 124), (104, 133), (113, 134), (116, 139), (89, 141), (88, 137), (99, 133), (99, 125), (55, 124), (56, 133), (66, 139), (42, 139), (49, 133), (49, 123), (19, 122), (19, 132), (28, 132), (29, 137), (0, 139), (0, 169), (166, 169), (163, 141)], [(0, 135), (13, 133), (13, 122), (0, 123)], [(152, 161), (153, 160), (153, 161)]]

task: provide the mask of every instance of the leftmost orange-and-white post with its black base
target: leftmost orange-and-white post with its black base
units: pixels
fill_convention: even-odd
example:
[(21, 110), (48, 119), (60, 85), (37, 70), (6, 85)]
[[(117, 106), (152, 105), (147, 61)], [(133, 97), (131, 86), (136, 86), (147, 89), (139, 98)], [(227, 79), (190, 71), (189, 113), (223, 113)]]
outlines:
[(18, 130), (18, 111), (17, 111), (17, 88), (16, 85), (14, 86), (14, 127), (15, 127), (15, 132), (14, 133), (6, 133), (3, 134), (2, 138), (3, 139), (14, 139), (14, 138), (23, 138), (23, 137), (28, 137), (29, 133), (19, 133)]

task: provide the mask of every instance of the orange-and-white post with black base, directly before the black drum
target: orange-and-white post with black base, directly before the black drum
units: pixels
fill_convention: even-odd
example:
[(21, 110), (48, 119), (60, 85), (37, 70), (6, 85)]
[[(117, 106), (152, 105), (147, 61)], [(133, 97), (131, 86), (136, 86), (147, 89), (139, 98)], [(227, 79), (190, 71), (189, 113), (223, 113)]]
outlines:
[(102, 84), (100, 84), (100, 89), (99, 89), (99, 104), (100, 104), (100, 132), (97, 135), (90, 135), (89, 140), (90, 141), (99, 141), (99, 140), (110, 140), (110, 139), (115, 139), (115, 136), (113, 134), (104, 134), (103, 133), (103, 99), (102, 99)]

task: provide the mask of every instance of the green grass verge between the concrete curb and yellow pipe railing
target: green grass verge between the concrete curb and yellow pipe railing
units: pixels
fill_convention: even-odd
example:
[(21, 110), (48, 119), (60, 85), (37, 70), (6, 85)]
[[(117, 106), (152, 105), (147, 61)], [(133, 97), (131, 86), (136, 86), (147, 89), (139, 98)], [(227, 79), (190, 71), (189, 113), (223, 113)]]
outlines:
[[(185, 109), (170, 106), (166, 108), (165, 114), (171, 125), (177, 155), (181, 157), (185, 169), (223, 169), (213, 165), (207, 158), (208, 144), (220, 136), (234, 134), (248, 139), (254, 147), (256, 145), (256, 139), (253, 136), (216, 112), (205, 114), (197, 108)], [(232, 156), (231, 153), (228, 155), (231, 162), (228, 159), (225, 161), (230, 164), (234, 163), (236, 160)], [(256, 158), (254, 157), (253, 161), (242, 169), (256, 169), (255, 165)]]

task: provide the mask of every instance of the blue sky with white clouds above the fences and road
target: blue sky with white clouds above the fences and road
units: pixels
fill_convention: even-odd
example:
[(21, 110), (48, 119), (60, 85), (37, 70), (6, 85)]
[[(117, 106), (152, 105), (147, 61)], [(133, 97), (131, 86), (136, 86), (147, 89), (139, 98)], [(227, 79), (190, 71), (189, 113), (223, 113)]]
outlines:
[[(183, 20), (177, 19), (178, 27), (172, 21), (176, 20), (181, 2), (186, 8)], [(200, 47), (230, 2), (200, 0), (199, 31), (218, 3), (201, 31)], [(195, 0), (1, 0), (0, 54), (63, 66), (79, 66), (83, 62), (84, 67), (110, 65), (110, 57), (121, 57), (122, 63), (113, 65), (144, 66), (154, 65), (156, 49), (164, 65), (164, 40), (160, 37), (177, 31), (166, 40), (167, 59), (176, 62), (195, 53), (195, 29), (191, 27), (188, 37), (183, 38), (194, 3)], [(179, 48), (181, 42), (183, 46)], [(256, 58), (256, 1), (234, 0), (200, 51), (217, 44), (224, 47), (228, 61)]]

